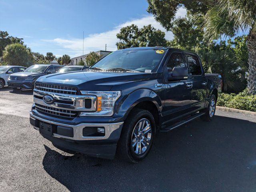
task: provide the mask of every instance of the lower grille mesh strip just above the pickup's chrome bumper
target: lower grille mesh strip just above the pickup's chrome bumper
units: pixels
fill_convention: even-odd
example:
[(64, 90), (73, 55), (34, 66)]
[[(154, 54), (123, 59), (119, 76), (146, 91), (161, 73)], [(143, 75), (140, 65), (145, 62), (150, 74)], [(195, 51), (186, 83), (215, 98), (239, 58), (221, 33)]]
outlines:
[(75, 118), (76, 116), (78, 116), (77, 111), (58, 109), (58, 108), (40, 105), (37, 103), (35, 103), (35, 107), (38, 112), (41, 112), (50, 116), (57, 116), (61, 118)]

